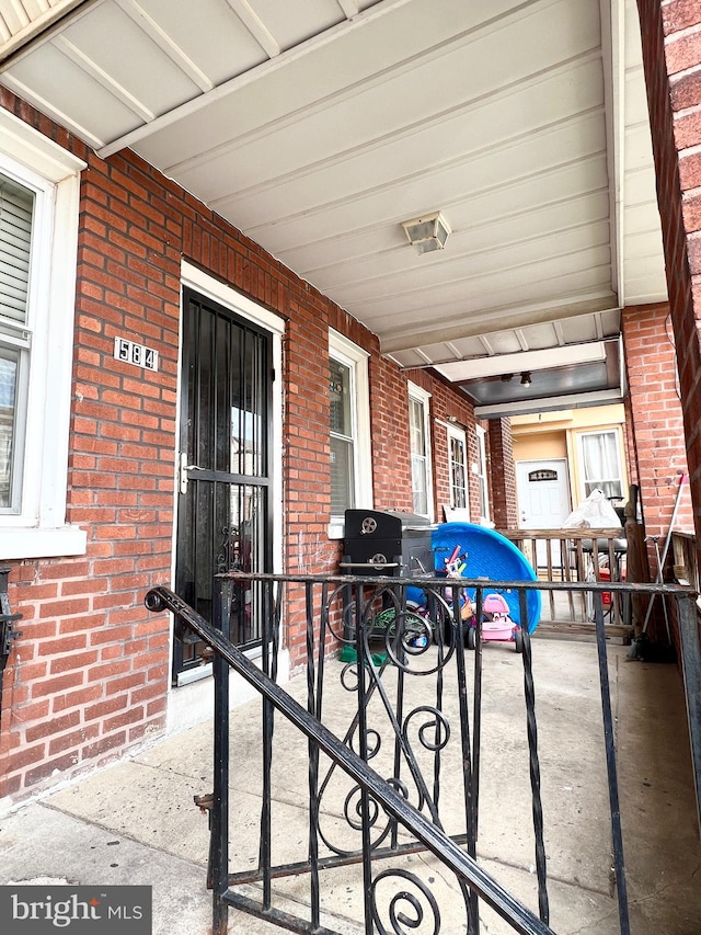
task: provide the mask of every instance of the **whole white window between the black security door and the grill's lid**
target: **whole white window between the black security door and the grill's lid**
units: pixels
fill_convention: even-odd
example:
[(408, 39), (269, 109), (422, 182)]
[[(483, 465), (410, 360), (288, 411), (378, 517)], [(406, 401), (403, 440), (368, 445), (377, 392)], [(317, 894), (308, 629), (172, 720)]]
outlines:
[(372, 505), (368, 354), (329, 332), (332, 537), (343, 536), (345, 511)]

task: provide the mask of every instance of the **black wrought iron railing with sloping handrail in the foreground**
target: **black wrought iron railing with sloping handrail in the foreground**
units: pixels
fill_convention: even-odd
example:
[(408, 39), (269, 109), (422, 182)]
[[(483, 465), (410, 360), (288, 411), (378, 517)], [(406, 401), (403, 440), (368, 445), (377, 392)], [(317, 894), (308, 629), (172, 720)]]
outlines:
[[(549, 935), (552, 930), (549, 927), (549, 909), (545, 881), (545, 856), (542, 842), (542, 809), (540, 806), (540, 774), (537, 752), (537, 726), (535, 719), (535, 693), (532, 673), (530, 670), (530, 639), (527, 628), (524, 628), (524, 669), (525, 669), (525, 695), (528, 716), (528, 743), (530, 751), (530, 775), (531, 775), (531, 793), (533, 802), (533, 828), (536, 833), (536, 866), (539, 883), (539, 912), (540, 919), (531, 912), (527, 907), (521, 904), (514, 896), (512, 896), (503, 886), (494, 880), (475, 860), (474, 841), (476, 837), (476, 798), (479, 795), (479, 721), (478, 712), (480, 708), (478, 692), (478, 679), (480, 672), (478, 669), (478, 660), (481, 653), (475, 658), (475, 707), (474, 707), (474, 737), (471, 741), (468, 738), (468, 745), (464, 749), (464, 757), (469, 762), (468, 786), (466, 788), (466, 797), (469, 802), (467, 808), (468, 834), (459, 837), (451, 837), (443, 830), (438, 820), (437, 813), (432, 812), (430, 819), (427, 818), (420, 809), (410, 803), (406, 798), (382, 778), (376, 771), (371, 768), (363, 755), (356, 753), (348, 744), (348, 738), (340, 740), (333, 734), (320, 720), (321, 709), (315, 709), (315, 705), (310, 700), (309, 709), (304, 709), (296, 702), (287, 692), (285, 692), (275, 682), (275, 659), (277, 650), (277, 640), (279, 637), (280, 623), (280, 605), (276, 604), (273, 588), (288, 583), (299, 583), (304, 585), (307, 594), (307, 614), (308, 614), (308, 683), (310, 686), (310, 699), (313, 698), (313, 665), (314, 665), (314, 643), (312, 637), (311, 622), (311, 605), (314, 588), (323, 589), (324, 600), (329, 602), (329, 595), (340, 595), (347, 592), (355, 595), (363, 593), (363, 589), (370, 589), (374, 594), (395, 593), (398, 589), (401, 591), (406, 586), (407, 581), (398, 581), (397, 578), (375, 577), (358, 579), (355, 575), (276, 575), (276, 574), (245, 574), (230, 573), (227, 575), (218, 575), (215, 579), (215, 620), (214, 626), (209, 624), (202, 615), (197, 614), (176, 594), (166, 588), (156, 588), (148, 592), (146, 597), (147, 607), (150, 611), (160, 612), (164, 609), (171, 611), (181, 619), (181, 622), (189, 628), (197, 637), (203, 640), (214, 651), (214, 675), (215, 675), (215, 791), (212, 796), (212, 809), (210, 814), (211, 841), (210, 841), (210, 860), (208, 885), (212, 889), (212, 935), (225, 935), (227, 931), (227, 911), (229, 905), (235, 905), (244, 911), (253, 914), (262, 915), (271, 922), (276, 922), (283, 927), (287, 927), (296, 932), (309, 933), (327, 933), (331, 931), (323, 928), (319, 921), (318, 910), (318, 892), (317, 908), (312, 908), (311, 923), (304, 923), (296, 917), (291, 917), (286, 913), (275, 909), (272, 904), (272, 880), (276, 877), (286, 874), (295, 874), (304, 870), (312, 871), (314, 875), (320, 867), (342, 866), (344, 863), (349, 863), (350, 858), (338, 854), (326, 858), (320, 858), (313, 844), (314, 835), (310, 835), (310, 856), (307, 863), (300, 865), (288, 865), (284, 868), (271, 867), (269, 859), (269, 837), (271, 837), (271, 807), (269, 800), (265, 800), (262, 816), (262, 841), (261, 841), (261, 866), (262, 870), (250, 874), (229, 874), (229, 857), (228, 857), (228, 774), (229, 774), (229, 704), (228, 704), (228, 674), (229, 669), (238, 672), (250, 685), (252, 685), (262, 696), (264, 705), (264, 718), (269, 717), (272, 726), (273, 709), (279, 710), (291, 723), (294, 723), (309, 740), (310, 745), (310, 784), (314, 763), (318, 765), (319, 751), (330, 757), (332, 763), (336, 764), (345, 772), (361, 789), (363, 814), (369, 814), (370, 803), (381, 806), (388, 816), (391, 816), (399, 822), (416, 842), (420, 842), (423, 847), (430, 851), (447, 868), (456, 876), (459, 887), (463, 891), (463, 898), (468, 913), (468, 933), (476, 935), (479, 927), (476, 913), (478, 897), (491, 905), (494, 911), (504, 919), (515, 932), (525, 933), (525, 935)], [(597, 630), (597, 650), (599, 659), (599, 675), (602, 698), (604, 714), (604, 733), (606, 746), (606, 762), (609, 780), (609, 797), (611, 810), (611, 832), (613, 840), (613, 856), (616, 882), (619, 901), (619, 920), (620, 932), (622, 935), (629, 935), (630, 923), (628, 917), (628, 899), (625, 891), (625, 870), (623, 859), (623, 841), (620, 823), (620, 808), (618, 802), (618, 779), (616, 772), (614, 743), (613, 743), (613, 721), (610, 705), (610, 694), (608, 686), (608, 668), (606, 657), (606, 632), (602, 615), (601, 594), (604, 591), (637, 591), (643, 593), (663, 593), (674, 596), (679, 600), (680, 606), (680, 629), (685, 634), (691, 632), (691, 614), (693, 614), (693, 603), (690, 600), (685, 600), (691, 596), (691, 591), (688, 588), (677, 585), (659, 585), (659, 584), (596, 584), (594, 582), (582, 583), (565, 583), (565, 582), (485, 582), (484, 580), (460, 580), (460, 585), (453, 582), (447, 582), (445, 578), (423, 578), (421, 581), (422, 588), (429, 591), (432, 588), (441, 589), (445, 595), (445, 606), (456, 612), (455, 622), (460, 620), (458, 608), (458, 592), (461, 588), (474, 588), (478, 602), (478, 617), (480, 616), (482, 589), (489, 586), (490, 590), (508, 589), (519, 592), (521, 619), (526, 619), (526, 592), (529, 590), (586, 590), (594, 595), (594, 604), (596, 608), (596, 630)], [(262, 588), (263, 600), (261, 608), (264, 613), (267, 624), (264, 626), (263, 641), (263, 670), (257, 668), (246, 655), (244, 655), (226, 636), (229, 630), (228, 614), (237, 589)], [(359, 607), (359, 597), (356, 597), (356, 616)], [(327, 606), (327, 603), (326, 603)], [(401, 604), (398, 605), (398, 608)], [(398, 611), (399, 612), (399, 611)], [(696, 614), (693, 614), (696, 622)], [(462, 625), (458, 623), (458, 626)], [(358, 630), (359, 632), (359, 630)], [(462, 640), (463, 632), (460, 629), (460, 639)], [(682, 638), (682, 643), (683, 643)], [(323, 638), (322, 643), (323, 646)], [(357, 646), (360, 646), (359, 636)], [(698, 639), (696, 658), (698, 660)], [(271, 653), (272, 650), (272, 653)], [(441, 652), (439, 648), (439, 653)], [(273, 662), (271, 663), (271, 655)], [(457, 652), (456, 659), (458, 666), (463, 662), (463, 653)], [(319, 659), (319, 670), (323, 666), (323, 654)], [(272, 669), (272, 674), (271, 674)], [(464, 674), (464, 671), (463, 671)], [(365, 679), (358, 679), (358, 684), (365, 684)], [(381, 692), (380, 680), (376, 679), (371, 685), (370, 692)], [(365, 692), (365, 688), (363, 689)], [(369, 695), (369, 693), (368, 693)], [(358, 705), (358, 736), (364, 738), (367, 730), (365, 723), (365, 707), (367, 699), (359, 695)], [(701, 705), (701, 702), (699, 702)], [(267, 711), (267, 714), (266, 714)], [(461, 719), (467, 714), (467, 708), (462, 708), (461, 700)], [(691, 714), (691, 711), (690, 711)], [(467, 721), (467, 717), (464, 717)], [(698, 763), (701, 762), (701, 739), (693, 737), (692, 732), (692, 753), (694, 756), (697, 784), (701, 779), (701, 772)], [(363, 743), (360, 753), (363, 753)], [(463, 741), (464, 743), (464, 741)], [(366, 751), (367, 754), (367, 751)], [(699, 754), (699, 755), (697, 755)], [(272, 757), (272, 728), (269, 736), (264, 738), (264, 763), (265, 768), (269, 772)], [(398, 774), (399, 775), (399, 774)], [(310, 790), (312, 785), (310, 785)], [(311, 791), (310, 791), (311, 796)], [(318, 798), (311, 796), (310, 801), (315, 802), (318, 808)], [(472, 825), (472, 826), (471, 826)], [(264, 840), (265, 839), (265, 840)], [(369, 837), (364, 833), (364, 854), (366, 854), (366, 845)], [(464, 846), (467, 845), (467, 851)], [(416, 850), (416, 845), (402, 844), (397, 846), (393, 839), (392, 847), (380, 848), (372, 853), (370, 857), (364, 856), (364, 867), (366, 860), (372, 860), (387, 856), (389, 852), (393, 855), (397, 853), (405, 853), (410, 850)], [(401, 874), (401, 871), (398, 871)], [(258, 905), (249, 897), (234, 893), (231, 890), (232, 885), (238, 885), (245, 881), (262, 881), (263, 883), (263, 900)], [(312, 891), (318, 883), (312, 882)], [(367, 909), (366, 897), (366, 933), (375, 932), (374, 919)], [(383, 928), (377, 931), (384, 931)], [(397, 930), (395, 930), (397, 931)], [(439, 925), (436, 931), (439, 931)]]

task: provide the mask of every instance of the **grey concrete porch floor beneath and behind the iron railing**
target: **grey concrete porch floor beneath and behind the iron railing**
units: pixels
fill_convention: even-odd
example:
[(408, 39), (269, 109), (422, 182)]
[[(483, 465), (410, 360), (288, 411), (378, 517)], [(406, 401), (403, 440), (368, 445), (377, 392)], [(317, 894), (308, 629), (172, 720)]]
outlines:
[[(630, 661), (627, 653), (627, 647), (609, 647), (631, 931), (699, 935), (701, 844), (680, 675), (673, 665)], [(468, 655), (472, 664), (473, 653)], [(537, 910), (520, 657), (506, 643), (487, 643), (483, 659), (479, 858)], [(330, 663), (326, 681), (335, 686), (329, 723), (337, 732), (345, 729), (354, 703), (338, 687), (341, 668)], [(614, 935), (596, 647), (536, 638), (533, 672), (551, 926), (561, 935)], [(413, 681), (411, 703), (421, 704), (427, 683)], [(289, 688), (304, 702), (303, 676)], [(257, 702), (232, 715), (231, 871), (248, 869), (256, 859), (260, 721)], [(307, 742), (279, 716), (273, 772), (274, 860), (301, 859), (308, 833)], [(210, 776), (211, 726), (204, 725), (0, 817), (0, 883), (151, 885), (156, 935), (205, 935), (210, 930), (208, 831), (193, 796), (211, 790)], [(447, 810), (452, 830), (450, 806), (459, 801), (455, 772), (441, 778), (441, 811)], [(333, 833), (345, 826), (342, 801), (338, 790), (322, 807)], [(455, 882), (436, 862), (418, 854), (403, 858), (402, 866), (435, 892), (444, 935), (464, 932)], [(281, 909), (304, 912), (304, 878), (275, 881), (274, 890)], [(343, 935), (361, 933), (359, 866), (329, 871), (322, 891), (324, 923)], [(231, 933), (283, 931), (234, 911), (229, 919)], [(432, 928), (413, 931), (421, 935)], [(481, 910), (481, 932), (509, 931), (487, 908)]]

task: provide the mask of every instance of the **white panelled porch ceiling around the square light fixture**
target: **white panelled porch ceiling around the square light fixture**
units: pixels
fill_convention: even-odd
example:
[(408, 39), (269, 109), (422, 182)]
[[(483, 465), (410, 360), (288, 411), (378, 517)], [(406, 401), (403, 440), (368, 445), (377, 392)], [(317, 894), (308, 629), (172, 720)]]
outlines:
[(0, 39), (1, 83), (478, 402), (471, 362), (548, 369), (666, 298), (635, 0), (0, 0)]

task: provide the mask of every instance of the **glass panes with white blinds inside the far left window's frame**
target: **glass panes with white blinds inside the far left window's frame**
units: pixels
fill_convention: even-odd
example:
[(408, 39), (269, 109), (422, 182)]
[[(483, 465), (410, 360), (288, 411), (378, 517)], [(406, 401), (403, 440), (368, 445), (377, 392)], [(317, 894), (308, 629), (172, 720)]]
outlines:
[(20, 497), (33, 214), (34, 193), (0, 175), (0, 511), (12, 510)]

